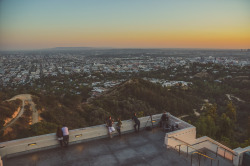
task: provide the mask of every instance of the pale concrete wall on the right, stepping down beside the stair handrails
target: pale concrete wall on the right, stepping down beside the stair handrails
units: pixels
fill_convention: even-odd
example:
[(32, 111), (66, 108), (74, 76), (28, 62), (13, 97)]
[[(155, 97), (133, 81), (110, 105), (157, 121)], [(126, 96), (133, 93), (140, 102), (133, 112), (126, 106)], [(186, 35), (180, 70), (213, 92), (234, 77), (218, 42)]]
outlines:
[[(174, 116), (171, 116), (170, 124), (179, 122), (179, 130), (166, 133), (165, 144), (167, 147), (175, 148), (184, 153), (193, 153), (199, 149), (206, 148), (219, 156), (232, 161), (235, 166), (241, 165), (243, 153), (250, 151), (250, 146), (244, 149), (232, 150), (227, 146), (207, 137), (196, 139), (196, 128)], [(188, 149), (188, 150), (187, 150)]]

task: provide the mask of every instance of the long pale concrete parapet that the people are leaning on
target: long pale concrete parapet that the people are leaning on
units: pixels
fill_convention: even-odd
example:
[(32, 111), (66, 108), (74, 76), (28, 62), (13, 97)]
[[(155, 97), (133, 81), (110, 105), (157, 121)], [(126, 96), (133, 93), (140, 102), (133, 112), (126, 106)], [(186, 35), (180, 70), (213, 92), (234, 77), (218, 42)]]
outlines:
[[(157, 125), (160, 121), (161, 114), (153, 115), (153, 125)], [(146, 125), (151, 126), (150, 116), (139, 118), (141, 122), (140, 128), (144, 128)], [(132, 120), (122, 121), (121, 132), (134, 131), (134, 122)], [(113, 125), (115, 126), (115, 124)], [(108, 137), (106, 125), (98, 125), (80, 129), (74, 129), (69, 131), (69, 144), (83, 142), (92, 139)], [(32, 152), (41, 149), (48, 149), (59, 146), (56, 134), (46, 134), (35, 137), (23, 138), (8, 142), (0, 143), (0, 156), (5, 157), (7, 155), (13, 155), (23, 152)]]

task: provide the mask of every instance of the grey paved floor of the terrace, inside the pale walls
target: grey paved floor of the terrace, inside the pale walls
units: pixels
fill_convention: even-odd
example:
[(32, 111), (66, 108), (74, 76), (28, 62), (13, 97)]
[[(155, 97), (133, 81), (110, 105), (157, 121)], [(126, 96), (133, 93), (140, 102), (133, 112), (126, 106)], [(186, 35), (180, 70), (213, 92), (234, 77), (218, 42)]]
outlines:
[(152, 131), (101, 138), (4, 158), (4, 166), (185, 166), (190, 161), (164, 144), (165, 132)]

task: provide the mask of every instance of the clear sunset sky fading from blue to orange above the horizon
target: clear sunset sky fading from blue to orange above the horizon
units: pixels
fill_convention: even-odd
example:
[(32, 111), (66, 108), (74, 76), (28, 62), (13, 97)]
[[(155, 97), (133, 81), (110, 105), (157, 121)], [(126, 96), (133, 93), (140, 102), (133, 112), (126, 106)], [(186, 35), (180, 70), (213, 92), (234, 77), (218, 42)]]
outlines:
[(0, 0), (0, 50), (250, 49), (250, 0)]

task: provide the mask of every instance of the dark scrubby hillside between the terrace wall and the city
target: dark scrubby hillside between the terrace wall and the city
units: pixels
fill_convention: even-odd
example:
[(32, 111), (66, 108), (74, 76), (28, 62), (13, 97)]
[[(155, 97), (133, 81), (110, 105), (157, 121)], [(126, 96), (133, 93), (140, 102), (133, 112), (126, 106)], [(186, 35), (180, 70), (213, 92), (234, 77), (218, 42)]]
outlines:
[[(198, 136), (210, 136), (230, 147), (240, 146), (239, 143), (245, 141), (245, 146), (249, 144), (250, 133), (247, 124), (249, 101), (245, 100), (248, 94), (242, 96), (245, 100), (242, 102), (237, 98), (239, 91), (230, 83), (198, 79), (184, 90), (180, 86), (162, 87), (134, 78), (88, 102), (87, 94), (37, 94), (33, 101), (37, 109), (42, 110), (40, 116), (44, 120), (28, 129), (19, 128), (16, 135), (4, 140), (52, 133), (62, 124), (75, 129), (103, 124), (108, 116), (125, 120), (131, 119), (134, 112), (139, 116), (147, 116), (168, 111), (195, 125)], [(86, 91), (90, 92), (90, 89)]]

